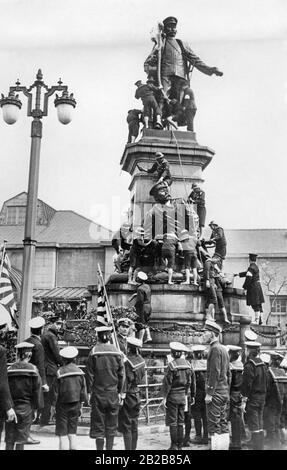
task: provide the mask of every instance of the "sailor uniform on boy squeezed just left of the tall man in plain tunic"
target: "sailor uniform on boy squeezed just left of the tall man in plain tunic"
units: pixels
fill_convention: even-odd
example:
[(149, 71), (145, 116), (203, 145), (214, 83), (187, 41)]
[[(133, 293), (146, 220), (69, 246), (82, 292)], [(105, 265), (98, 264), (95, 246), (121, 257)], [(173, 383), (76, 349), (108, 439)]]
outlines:
[[(207, 417), (205, 405), (205, 383), (206, 383), (206, 359), (194, 359), (192, 361), (196, 381), (195, 402), (191, 407), (194, 419), (195, 436), (203, 437), (204, 443), (208, 443)], [(202, 433), (203, 432), (203, 433)]]

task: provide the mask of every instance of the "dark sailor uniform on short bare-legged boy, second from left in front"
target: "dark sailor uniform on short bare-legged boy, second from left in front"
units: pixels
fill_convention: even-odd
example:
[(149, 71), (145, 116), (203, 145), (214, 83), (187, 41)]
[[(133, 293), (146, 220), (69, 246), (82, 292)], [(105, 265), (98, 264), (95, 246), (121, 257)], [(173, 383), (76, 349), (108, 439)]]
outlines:
[(56, 435), (76, 434), (81, 403), (87, 401), (85, 374), (76, 364), (67, 364), (57, 371), (52, 397), (52, 405), (56, 406)]

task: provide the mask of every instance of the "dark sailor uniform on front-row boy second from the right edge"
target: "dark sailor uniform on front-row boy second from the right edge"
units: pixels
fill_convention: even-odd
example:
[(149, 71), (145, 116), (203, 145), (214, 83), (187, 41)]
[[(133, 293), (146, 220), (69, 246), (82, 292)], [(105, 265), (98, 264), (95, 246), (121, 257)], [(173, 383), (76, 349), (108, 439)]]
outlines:
[(247, 397), (246, 423), (254, 437), (254, 448), (263, 448), (263, 412), (267, 392), (267, 368), (259, 358), (248, 358), (244, 364), (241, 395)]

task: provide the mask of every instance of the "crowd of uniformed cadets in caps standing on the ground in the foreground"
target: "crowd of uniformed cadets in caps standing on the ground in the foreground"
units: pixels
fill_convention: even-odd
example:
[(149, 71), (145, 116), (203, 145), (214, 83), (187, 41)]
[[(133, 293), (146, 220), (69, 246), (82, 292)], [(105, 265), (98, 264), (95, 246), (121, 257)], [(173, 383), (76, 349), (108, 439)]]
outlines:
[[(5, 322), (0, 319), (1, 338), (7, 332)], [(65, 449), (66, 442), (69, 449), (76, 449), (78, 420), (83, 404), (89, 403), (90, 437), (97, 449), (113, 449), (119, 431), (125, 449), (135, 450), (145, 361), (133, 322), (119, 320), (119, 348), (111, 342), (112, 327), (96, 328), (97, 343), (90, 351), (86, 374), (75, 364), (77, 348), (67, 346), (59, 351), (55, 334), (51, 345), (56, 354), (53, 356), (51, 350), (46, 354), (45, 336), (49, 338), (51, 329), (55, 331), (53, 324), (43, 334), (42, 317), (33, 318), (30, 326), (29, 342), (16, 345), (17, 360), (8, 368), (5, 348), (0, 346), (1, 431), (5, 423), (6, 449), (22, 450), (26, 445), (39, 444), (30, 435), (39, 411), (41, 416), (44, 411), (46, 423), (50, 422), (50, 413), (55, 415), (59, 449)], [(264, 443), (268, 448), (279, 448), (280, 442), (287, 442), (283, 356), (277, 351), (260, 354), (261, 344), (251, 330), (245, 332), (243, 349), (223, 346), (220, 334), (220, 326), (206, 320), (202, 344), (187, 347), (170, 343), (161, 389), (170, 449), (207, 445), (209, 440), (211, 450), (263, 450)], [(47, 372), (52, 361), (55, 375), (51, 382)], [(190, 439), (192, 419), (194, 439)]]

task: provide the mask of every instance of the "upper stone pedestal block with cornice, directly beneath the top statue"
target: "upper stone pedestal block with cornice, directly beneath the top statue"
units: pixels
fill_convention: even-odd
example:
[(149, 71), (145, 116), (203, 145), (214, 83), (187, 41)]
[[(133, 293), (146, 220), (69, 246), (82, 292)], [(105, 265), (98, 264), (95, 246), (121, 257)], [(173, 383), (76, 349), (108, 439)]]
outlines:
[(173, 199), (187, 199), (191, 183), (203, 181), (202, 172), (214, 155), (213, 150), (197, 143), (194, 132), (144, 129), (138, 142), (127, 144), (121, 165), (132, 177), (129, 190), (134, 226), (142, 224), (154, 204), (149, 192), (156, 182), (154, 175), (139, 171), (136, 165), (150, 168), (155, 162), (156, 152), (162, 152), (170, 163)]

